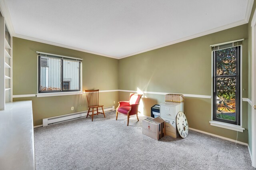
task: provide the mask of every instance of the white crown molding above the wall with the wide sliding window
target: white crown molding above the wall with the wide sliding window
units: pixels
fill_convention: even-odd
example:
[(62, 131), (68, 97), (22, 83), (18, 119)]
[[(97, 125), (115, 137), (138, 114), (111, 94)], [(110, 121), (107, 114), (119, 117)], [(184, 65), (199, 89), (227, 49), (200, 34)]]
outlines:
[(46, 44), (55, 45), (55, 46), (58, 46), (58, 47), (74, 49), (74, 50), (77, 50), (77, 51), (82, 51), (82, 52), (86, 52), (86, 53), (101, 55), (101, 56), (104, 56), (104, 57), (110, 57), (110, 58), (114, 58), (114, 59), (119, 59), (118, 57), (114, 57), (114, 56), (111, 56), (111, 55), (106, 55), (106, 54), (97, 53), (97, 52), (94, 52), (94, 51), (89, 51), (89, 50), (86, 50), (86, 49), (72, 47), (72, 46), (69, 46), (69, 45), (64, 45), (64, 44), (60, 44), (60, 43), (50, 42), (50, 41), (46, 41), (46, 40), (41, 40), (41, 39), (38, 39), (38, 38), (24, 36), (24, 35), (21, 35), (21, 34), (14, 34), (13, 36), (17, 37), (17, 38), (22, 38), (22, 39), (25, 39), (25, 40), (31, 40), (31, 41), (35, 41), (35, 42), (46, 43)]

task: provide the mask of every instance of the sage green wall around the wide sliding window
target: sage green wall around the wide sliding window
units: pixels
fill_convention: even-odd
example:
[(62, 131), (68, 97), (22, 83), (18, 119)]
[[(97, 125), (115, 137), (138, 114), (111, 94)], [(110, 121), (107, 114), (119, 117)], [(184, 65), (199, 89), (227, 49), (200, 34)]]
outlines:
[[(118, 60), (94, 55), (45, 43), (13, 38), (13, 95), (37, 93), (37, 53), (36, 51), (82, 58), (82, 90), (118, 89)], [(100, 93), (100, 104), (112, 106), (118, 92)], [(14, 101), (32, 100), (34, 126), (42, 125), (42, 119), (69, 113), (86, 111), (85, 95), (66, 95), (54, 97), (22, 97)], [(74, 106), (74, 111), (71, 107)]]

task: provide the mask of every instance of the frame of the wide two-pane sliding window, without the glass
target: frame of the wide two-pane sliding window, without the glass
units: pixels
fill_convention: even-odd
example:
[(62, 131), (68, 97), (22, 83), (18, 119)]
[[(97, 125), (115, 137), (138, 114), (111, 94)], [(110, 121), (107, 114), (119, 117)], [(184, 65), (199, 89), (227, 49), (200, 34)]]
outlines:
[[(54, 55), (54, 54), (49, 54), (49, 53), (41, 53), (41, 52), (37, 52), (38, 53), (38, 56), (37, 56), (37, 59), (38, 59), (38, 74), (37, 74), (37, 77), (38, 77), (38, 87), (37, 87), (37, 94), (38, 95), (40, 95), (40, 94), (50, 94), (50, 93), (52, 93), (53, 95), (54, 94), (56, 94), (56, 93), (58, 93), (58, 94), (60, 94), (60, 93), (66, 93), (67, 95), (68, 95), (68, 93), (72, 93), (72, 92), (81, 92), (82, 91), (82, 89), (81, 89), (81, 87), (82, 87), (82, 59), (77, 59), (77, 58), (73, 58), (73, 57), (65, 57), (65, 56), (62, 56), (62, 55)], [(53, 90), (53, 91), (40, 91), (40, 70), (41, 70), (41, 57), (42, 58), (46, 58), (46, 57), (48, 57), (48, 58), (56, 58), (56, 59), (60, 59), (60, 61), (61, 61), (61, 65), (60, 65), (60, 67), (61, 67), (61, 85), (60, 85), (60, 87), (61, 87), (61, 89), (60, 90)], [(77, 61), (78, 63), (79, 63), (79, 71), (78, 71), (78, 73), (79, 73), (79, 89), (78, 90), (63, 90), (63, 60), (69, 60), (69, 61)], [(43, 66), (44, 67), (44, 66)], [(50, 96), (52, 96), (52, 95), (50, 95)]]

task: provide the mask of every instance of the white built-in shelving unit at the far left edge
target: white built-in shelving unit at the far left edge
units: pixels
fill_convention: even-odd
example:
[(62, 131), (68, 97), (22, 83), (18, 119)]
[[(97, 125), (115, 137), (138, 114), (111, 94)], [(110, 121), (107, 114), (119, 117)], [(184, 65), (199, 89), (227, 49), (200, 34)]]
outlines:
[(0, 110), (12, 102), (12, 36), (0, 14)]

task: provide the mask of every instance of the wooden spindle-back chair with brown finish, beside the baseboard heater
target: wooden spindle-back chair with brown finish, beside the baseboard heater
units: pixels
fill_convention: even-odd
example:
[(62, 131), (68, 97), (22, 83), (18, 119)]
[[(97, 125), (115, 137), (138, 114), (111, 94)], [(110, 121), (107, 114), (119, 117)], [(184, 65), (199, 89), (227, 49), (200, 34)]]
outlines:
[[(99, 105), (99, 90), (85, 90), (85, 93), (86, 93), (86, 98), (87, 98), (88, 107), (89, 107), (86, 118), (88, 117), (90, 112), (92, 112), (92, 114), (89, 115), (90, 117), (92, 117), (92, 121), (93, 121), (93, 115), (98, 115), (99, 113), (103, 114), (104, 117), (106, 117), (103, 110), (103, 105)], [(102, 112), (98, 111), (99, 107), (102, 108)], [(94, 114), (95, 108), (97, 109), (97, 113)]]

